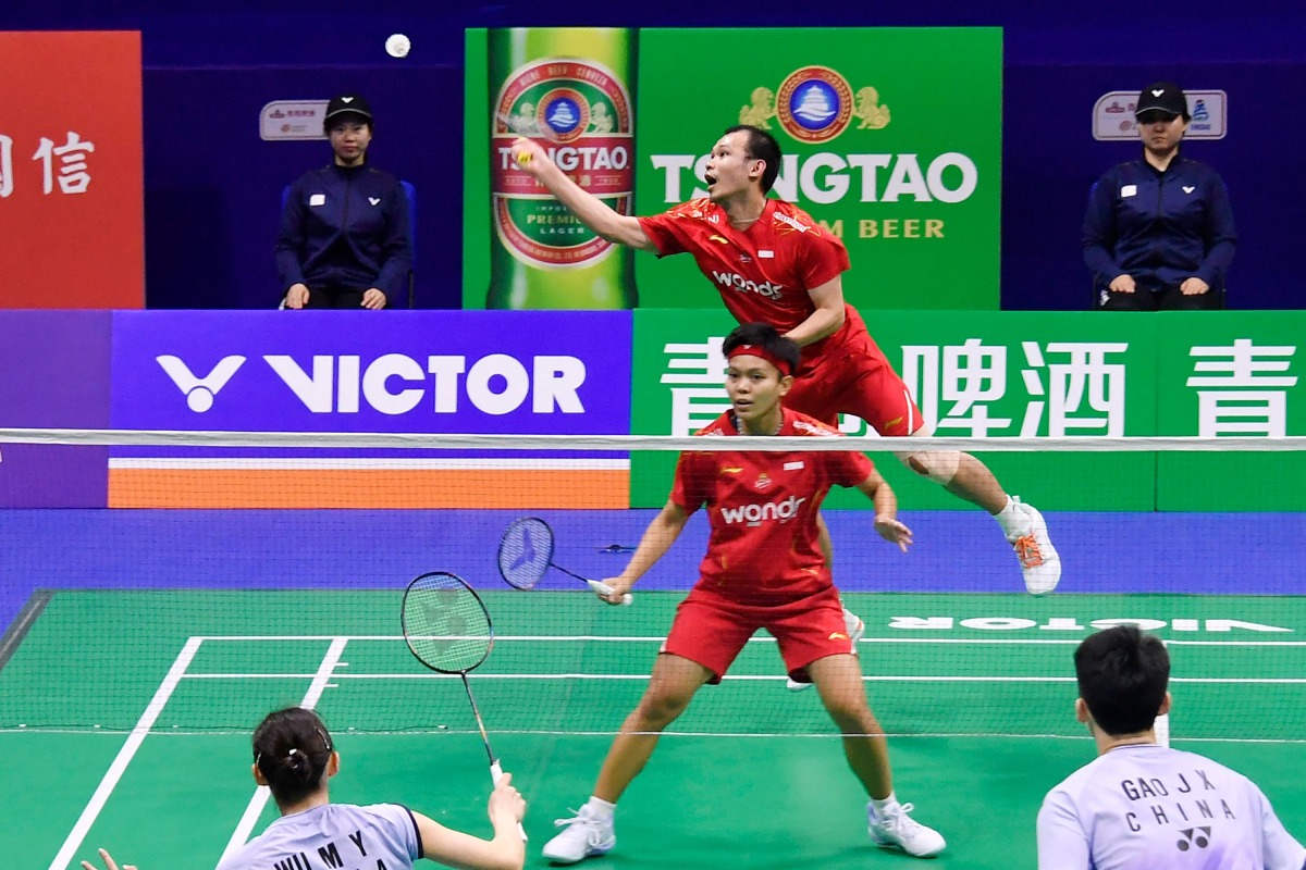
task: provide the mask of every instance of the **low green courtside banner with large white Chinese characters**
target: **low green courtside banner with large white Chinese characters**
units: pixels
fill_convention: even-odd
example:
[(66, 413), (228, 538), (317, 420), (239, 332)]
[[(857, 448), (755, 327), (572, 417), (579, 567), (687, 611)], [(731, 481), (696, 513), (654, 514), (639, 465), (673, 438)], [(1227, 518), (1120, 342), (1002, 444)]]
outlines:
[[(726, 410), (722, 312), (639, 310), (631, 432), (691, 434)], [(880, 348), (939, 436), (1306, 434), (1294, 374), (1306, 314), (880, 312)], [(966, 509), (862, 441), (912, 510)], [(1303, 510), (1298, 454), (983, 453), (1004, 488), (1047, 510)], [(661, 506), (674, 457), (631, 460), (632, 506)], [(1232, 477), (1230, 477), (1232, 476)], [(865, 507), (836, 490), (837, 507)]]

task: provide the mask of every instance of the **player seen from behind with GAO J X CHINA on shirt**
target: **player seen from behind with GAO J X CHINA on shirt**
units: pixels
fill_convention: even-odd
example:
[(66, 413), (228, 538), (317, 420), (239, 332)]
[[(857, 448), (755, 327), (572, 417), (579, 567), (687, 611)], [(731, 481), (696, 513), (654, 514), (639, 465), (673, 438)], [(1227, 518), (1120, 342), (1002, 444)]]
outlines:
[(1098, 758), (1043, 798), (1040, 870), (1306, 870), (1302, 848), (1242, 773), (1156, 742), (1170, 656), (1135, 626), (1075, 651), (1075, 715)]

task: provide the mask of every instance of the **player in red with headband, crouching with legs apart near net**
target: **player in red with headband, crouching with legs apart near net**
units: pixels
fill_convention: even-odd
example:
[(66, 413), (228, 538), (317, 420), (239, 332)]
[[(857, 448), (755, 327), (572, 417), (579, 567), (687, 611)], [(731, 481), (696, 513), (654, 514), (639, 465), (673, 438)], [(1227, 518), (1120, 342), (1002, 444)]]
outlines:
[(844, 607), (818, 535), (818, 511), (832, 485), (853, 487), (875, 505), (875, 531), (904, 552), (912, 532), (897, 519), (893, 490), (859, 453), (747, 453), (765, 436), (838, 437), (837, 429), (782, 407), (799, 365), (798, 344), (767, 323), (735, 329), (722, 346), (731, 410), (699, 432), (735, 438), (739, 451), (680, 455), (671, 497), (645, 530), (620, 577), (605, 580), (610, 604), (671, 547), (690, 515), (707, 506), (712, 536), (700, 579), (677, 609), (653, 677), (603, 760), (594, 793), (543, 849), (573, 863), (616, 844), (616, 801), (643, 770), (661, 732), (700, 686), (717, 682), (759, 629), (774, 635), (785, 668), (810, 680), (844, 734), (848, 764), (870, 796), (871, 840), (917, 857), (944, 848), (938, 831), (914, 822), (893, 794), (888, 745), (866, 702), (862, 669), (849, 651)]

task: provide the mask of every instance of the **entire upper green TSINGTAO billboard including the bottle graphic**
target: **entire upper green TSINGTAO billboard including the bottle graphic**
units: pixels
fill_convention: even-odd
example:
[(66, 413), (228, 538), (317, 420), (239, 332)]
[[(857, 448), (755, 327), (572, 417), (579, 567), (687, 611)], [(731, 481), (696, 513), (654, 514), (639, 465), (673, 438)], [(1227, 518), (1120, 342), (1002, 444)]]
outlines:
[[(704, 87), (687, 57), (730, 63)], [(466, 70), (464, 308), (720, 305), (691, 257), (594, 237), (508, 147), (532, 136), (614, 209), (656, 214), (707, 196), (737, 123), (780, 141), (774, 194), (844, 240), (848, 301), (998, 308), (998, 29), (471, 29)]]

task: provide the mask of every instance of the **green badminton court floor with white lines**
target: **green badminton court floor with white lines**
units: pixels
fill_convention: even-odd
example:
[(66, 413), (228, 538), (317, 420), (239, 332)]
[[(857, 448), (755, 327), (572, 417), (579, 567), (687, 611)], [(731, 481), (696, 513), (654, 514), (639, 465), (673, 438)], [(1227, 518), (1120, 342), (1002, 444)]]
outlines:
[[(142, 870), (212, 867), (274, 809), (251, 728), (316, 706), (338, 801), (400, 801), (487, 833), (485, 751), (456, 677), (422, 669), (401, 592), (57, 592), (0, 670), (3, 866), (77, 866), (110, 845)], [(530, 802), (528, 863), (589, 794), (682, 595), (605, 608), (584, 592), (490, 592), (496, 644), (471, 676)], [(899, 796), (949, 841), (934, 866), (1034, 866), (1043, 793), (1092, 758), (1071, 716), (1074, 646), (1145, 621), (1174, 659), (1173, 742), (1243, 771), (1306, 836), (1306, 603), (1298, 597), (850, 593)], [(1096, 626), (1094, 626), (1096, 623)], [(622, 801), (593, 867), (906, 866), (870, 845), (865, 796), (815, 693), (789, 693), (759, 635), (700, 691)]]

